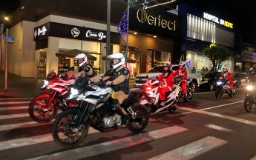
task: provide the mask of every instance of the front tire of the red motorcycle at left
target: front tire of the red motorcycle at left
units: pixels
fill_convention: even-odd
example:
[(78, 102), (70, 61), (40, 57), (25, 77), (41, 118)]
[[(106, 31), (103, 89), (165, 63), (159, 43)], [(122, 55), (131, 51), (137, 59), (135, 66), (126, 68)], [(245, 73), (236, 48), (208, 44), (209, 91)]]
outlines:
[[(49, 98), (50, 95), (39, 95), (39, 96), (36, 96), (35, 99), (33, 99), (31, 102), (30, 102), (30, 105), (28, 107), (28, 113), (30, 114), (30, 118), (33, 119), (33, 121), (36, 121), (38, 123), (47, 123), (51, 120), (53, 120), (56, 115), (57, 115), (57, 112), (58, 112), (58, 104), (56, 101), (54, 104), (53, 104), (53, 107), (55, 107), (55, 110), (53, 110), (52, 114), (50, 114), (48, 111), (44, 112), (43, 110), (38, 110), (38, 105), (42, 104), (42, 105), (46, 105), (47, 104), (47, 99)], [(39, 103), (39, 101), (43, 99), (43, 101), (41, 103)], [(39, 103), (39, 104), (37, 104)], [(37, 104), (37, 112), (35, 112), (33, 109), (34, 109), (34, 106)], [(41, 107), (41, 106), (40, 106)], [(50, 116), (49, 116), (50, 115)]]

